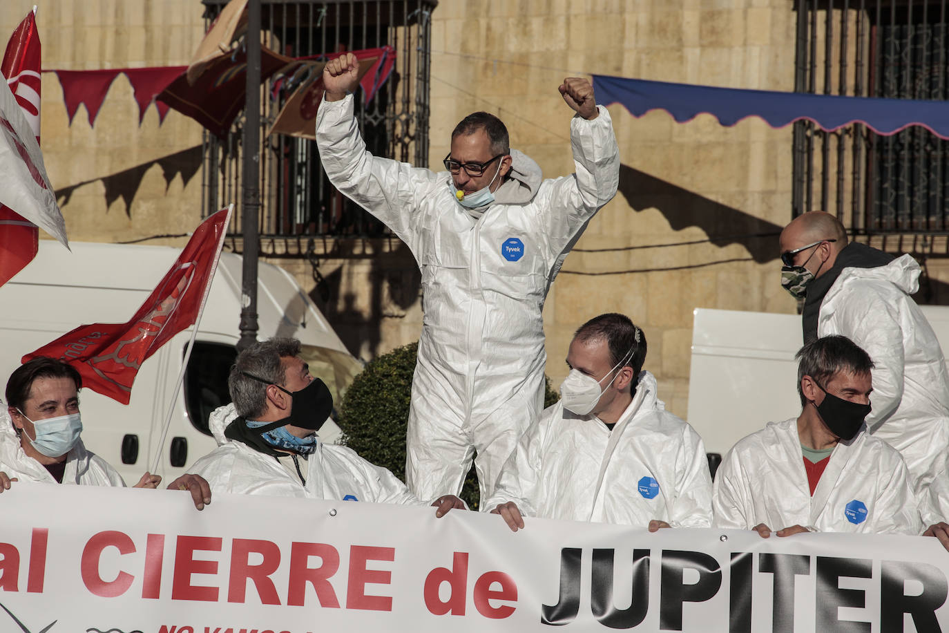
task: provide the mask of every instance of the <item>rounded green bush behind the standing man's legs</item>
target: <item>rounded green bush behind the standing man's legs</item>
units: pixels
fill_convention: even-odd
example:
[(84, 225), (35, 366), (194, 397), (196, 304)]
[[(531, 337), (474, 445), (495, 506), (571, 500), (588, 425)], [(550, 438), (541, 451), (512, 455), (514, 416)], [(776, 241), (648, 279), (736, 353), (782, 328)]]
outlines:
[[(343, 443), (364, 459), (392, 471), (405, 480), (405, 426), (412, 400), (412, 374), (419, 344), (413, 343), (382, 354), (365, 365), (346, 390), (339, 407)], [(557, 401), (546, 379), (544, 406)], [(478, 506), (474, 466), (461, 491), (472, 510)]]

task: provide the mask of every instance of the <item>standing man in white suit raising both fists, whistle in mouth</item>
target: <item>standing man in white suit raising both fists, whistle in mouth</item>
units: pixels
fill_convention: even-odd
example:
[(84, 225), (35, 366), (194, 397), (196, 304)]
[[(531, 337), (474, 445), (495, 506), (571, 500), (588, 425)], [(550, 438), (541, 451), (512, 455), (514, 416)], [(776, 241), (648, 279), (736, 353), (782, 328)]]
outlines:
[(541, 310), (586, 222), (613, 195), (620, 158), (609, 114), (585, 79), (560, 93), (576, 173), (544, 180), (510, 148), (500, 120), (469, 115), (452, 133), (447, 171), (435, 173), (365, 151), (353, 97), (358, 62), (329, 62), (316, 122), (333, 185), (378, 217), (421, 270), (424, 319), (412, 382), (406, 481), (429, 498), (459, 492), (475, 469), (481, 498), (544, 401)]

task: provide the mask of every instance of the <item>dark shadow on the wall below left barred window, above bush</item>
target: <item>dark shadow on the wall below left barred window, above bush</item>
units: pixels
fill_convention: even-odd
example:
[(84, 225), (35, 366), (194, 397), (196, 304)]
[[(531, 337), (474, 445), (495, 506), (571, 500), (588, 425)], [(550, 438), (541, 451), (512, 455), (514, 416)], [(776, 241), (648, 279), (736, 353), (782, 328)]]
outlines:
[[(389, 240), (393, 248), (383, 251), (383, 241)], [(357, 244), (363, 246), (356, 249)], [(370, 358), (375, 357), (382, 341), (383, 320), (404, 318), (405, 311), (419, 300), (421, 271), (412, 251), (396, 237), (336, 238), (332, 250), (320, 259), (343, 261), (336, 270), (323, 275), (319, 259), (310, 255), (316, 282), (310, 298), (323, 311), (349, 353), (360, 358), (368, 352)], [(358, 270), (358, 287), (344, 277), (345, 269), (350, 267)]]

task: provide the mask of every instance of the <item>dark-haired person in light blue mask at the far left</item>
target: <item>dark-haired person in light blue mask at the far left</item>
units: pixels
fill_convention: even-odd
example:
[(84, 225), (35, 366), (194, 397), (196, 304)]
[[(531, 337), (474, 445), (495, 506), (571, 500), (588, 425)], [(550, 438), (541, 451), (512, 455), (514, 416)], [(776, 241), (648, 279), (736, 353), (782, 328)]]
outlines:
[[(0, 493), (13, 482), (124, 486), (102, 457), (86, 450), (81, 434), (79, 390), (83, 378), (68, 363), (41, 356), (23, 363), (7, 382), (0, 410)], [(161, 477), (145, 473), (135, 488), (158, 488)], [(208, 482), (181, 475), (169, 490), (187, 490), (195, 508), (211, 503)]]

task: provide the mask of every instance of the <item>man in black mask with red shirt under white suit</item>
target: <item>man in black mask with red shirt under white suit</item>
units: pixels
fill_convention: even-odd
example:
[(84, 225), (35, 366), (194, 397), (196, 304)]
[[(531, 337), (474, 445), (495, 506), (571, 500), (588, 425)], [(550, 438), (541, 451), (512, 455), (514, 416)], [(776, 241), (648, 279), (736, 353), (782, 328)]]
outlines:
[(873, 363), (844, 336), (797, 353), (801, 415), (741, 439), (716, 473), (716, 528), (920, 534), (900, 453), (866, 431)]

